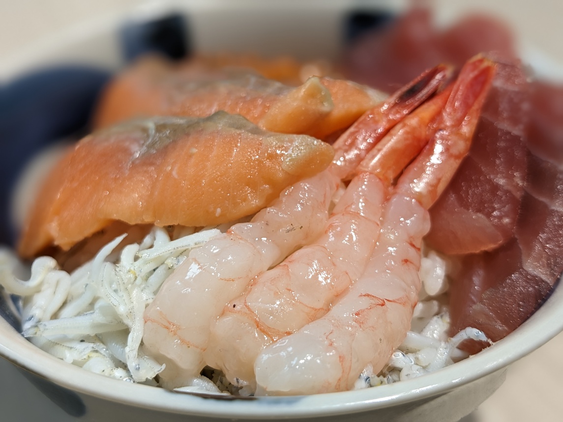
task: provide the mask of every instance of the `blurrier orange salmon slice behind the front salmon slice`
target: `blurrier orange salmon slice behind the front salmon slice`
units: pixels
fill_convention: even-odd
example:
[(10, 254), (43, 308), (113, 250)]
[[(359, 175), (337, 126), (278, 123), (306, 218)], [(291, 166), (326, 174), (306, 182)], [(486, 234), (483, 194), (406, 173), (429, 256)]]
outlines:
[(93, 123), (100, 128), (135, 117), (204, 117), (224, 110), (268, 131), (324, 138), (346, 129), (384, 98), (348, 80), (311, 77), (292, 87), (253, 70), (146, 57), (109, 84)]

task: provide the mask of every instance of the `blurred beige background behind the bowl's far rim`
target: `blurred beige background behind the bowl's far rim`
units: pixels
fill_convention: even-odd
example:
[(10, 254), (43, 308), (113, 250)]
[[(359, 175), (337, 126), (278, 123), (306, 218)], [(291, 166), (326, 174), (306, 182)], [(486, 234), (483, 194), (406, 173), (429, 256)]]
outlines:
[[(416, 1), (416, 0), (414, 0)], [(178, 1), (181, 3), (182, 1)], [(323, 3), (348, 3), (352, 5), (382, 4), (404, 6), (413, 0), (285, 0), (284, 5), (308, 3), (322, 5)], [(20, 0), (12, 2), (0, 1), (0, 57), (5, 59), (15, 55), (22, 46), (29, 43), (45, 41), (54, 37), (60, 30), (77, 30), (84, 25), (108, 17), (125, 14), (133, 7), (150, 5), (155, 1), (142, 0)], [(200, 3), (185, 0), (184, 3)], [(274, 2), (256, 0), (206, 0), (206, 6), (224, 5), (226, 3), (252, 4), (268, 7)], [(466, 15), (468, 12), (479, 10), (501, 16), (511, 23), (517, 30), (519, 37), (526, 42), (541, 48), (549, 56), (563, 59), (563, 43), (558, 42), (556, 31), (563, 15), (563, 3), (551, 0), (426, 0), (432, 3), (440, 19), (453, 19)]]

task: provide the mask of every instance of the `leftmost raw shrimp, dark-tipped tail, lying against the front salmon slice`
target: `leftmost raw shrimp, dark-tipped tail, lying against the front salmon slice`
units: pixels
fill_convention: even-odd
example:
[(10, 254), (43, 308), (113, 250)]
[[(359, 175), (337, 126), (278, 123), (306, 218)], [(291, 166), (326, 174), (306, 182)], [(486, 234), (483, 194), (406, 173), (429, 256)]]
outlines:
[[(375, 120), (380, 125), (377, 136), (381, 138), (430, 96), (445, 76), (444, 67), (437, 66), (413, 81), (412, 89), (401, 90), (374, 110), (381, 115)], [(371, 118), (363, 122), (373, 124)], [(355, 127), (360, 131), (364, 125)], [(346, 147), (361, 145), (361, 151), (351, 155), (356, 158), (369, 152), (372, 138), (365, 138), (364, 144), (356, 141)], [(254, 276), (322, 233), (341, 177), (355, 165), (341, 152), (325, 172), (288, 188), (251, 223), (235, 225), (224, 236), (194, 250), (163, 285), (145, 312), (144, 342), (153, 356), (167, 365), (161, 374), (165, 387), (186, 385), (202, 370), (211, 322), (226, 303), (241, 294)]]

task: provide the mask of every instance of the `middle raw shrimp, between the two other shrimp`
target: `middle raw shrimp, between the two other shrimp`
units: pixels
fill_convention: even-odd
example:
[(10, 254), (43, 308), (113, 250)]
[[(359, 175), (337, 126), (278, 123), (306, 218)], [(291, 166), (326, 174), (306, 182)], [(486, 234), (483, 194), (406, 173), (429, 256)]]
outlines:
[(231, 383), (255, 388), (258, 353), (323, 316), (334, 298), (358, 279), (376, 246), (388, 188), (428, 141), (428, 127), (450, 91), (446, 88), (419, 106), (373, 147), (318, 240), (258, 275), (243, 295), (227, 304), (212, 326), (204, 353), (208, 366), (221, 369)]

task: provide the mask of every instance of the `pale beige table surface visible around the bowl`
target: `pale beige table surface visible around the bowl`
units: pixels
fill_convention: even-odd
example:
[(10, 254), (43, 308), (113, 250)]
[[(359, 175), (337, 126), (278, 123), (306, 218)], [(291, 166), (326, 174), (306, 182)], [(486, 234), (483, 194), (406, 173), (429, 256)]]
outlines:
[[(0, 69), (20, 47), (57, 30), (127, 12), (137, 0), (0, 0)], [(556, 0), (436, 0), (444, 17), (478, 8), (506, 19), (526, 44), (563, 63), (563, 2)], [(563, 420), (563, 334), (508, 371), (506, 382), (466, 422)], [(0, 359), (0, 420), (71, 421)]]

